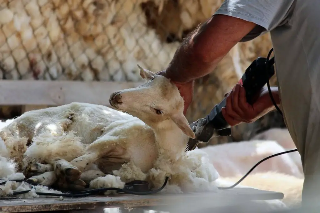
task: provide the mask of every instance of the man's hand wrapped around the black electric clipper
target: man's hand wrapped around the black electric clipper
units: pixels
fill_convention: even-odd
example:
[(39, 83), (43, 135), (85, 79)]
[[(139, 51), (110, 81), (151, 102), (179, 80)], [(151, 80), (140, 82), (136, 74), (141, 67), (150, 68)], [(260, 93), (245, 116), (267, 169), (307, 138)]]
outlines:
[[(271, 92), (278, 104), (278, 88), (271, 87)], [(273, 110), (275, 107), (268, 93), (268, 88), (262, 88), (253, 105), (247, 103), (244, 87), (236, 84), (227, 95), (226, 107), (221, 109), (223, 117), (230, 126), (236, 126), (242, 122), (252, 123)]]

